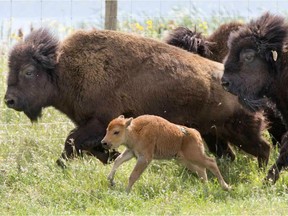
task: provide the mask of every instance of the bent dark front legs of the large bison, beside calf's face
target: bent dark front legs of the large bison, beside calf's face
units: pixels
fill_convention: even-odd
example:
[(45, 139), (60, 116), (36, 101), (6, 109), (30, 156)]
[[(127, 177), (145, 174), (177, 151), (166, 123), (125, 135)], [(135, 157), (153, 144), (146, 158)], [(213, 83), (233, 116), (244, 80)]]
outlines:
[(107, 164), (110, 160), (115, 159), (119, 152), (109, 152), (103, 148), (101, 140), (104, 135), (105, 127), (98, 120), (90, 121), (75, 128), (66, 138), (64, 151), (57, 163), (60, 166), (65, 166), (63, 159), (71, 159), (85, 151), (98, 158), (102, 163)]

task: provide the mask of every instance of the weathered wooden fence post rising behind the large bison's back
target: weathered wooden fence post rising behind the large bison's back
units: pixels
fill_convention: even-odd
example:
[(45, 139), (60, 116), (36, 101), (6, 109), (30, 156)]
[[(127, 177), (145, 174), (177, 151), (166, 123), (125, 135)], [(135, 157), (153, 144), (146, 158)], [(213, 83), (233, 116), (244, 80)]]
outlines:
[(105, 29), (117, 28), (117, 0), (105, 0)]

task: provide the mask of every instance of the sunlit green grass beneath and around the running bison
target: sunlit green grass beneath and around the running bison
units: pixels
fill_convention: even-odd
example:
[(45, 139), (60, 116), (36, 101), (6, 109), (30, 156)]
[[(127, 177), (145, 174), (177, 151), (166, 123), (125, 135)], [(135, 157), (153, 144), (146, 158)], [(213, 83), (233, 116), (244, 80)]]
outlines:
[[(84, 156), (62, 170), (55, 161), (73, 124), (48, 108), (37, 124), (7, 109), (7, 58), (0, 59), (0, 215), (287, 215), (288, 173), (276, 185), (263, 185), (265, 171), (255, 158), (237, 151), (231, 163), (217, 160), (223, 191), (209, 173), (203, 184), (175, 161), (154, 161), (127, 195), (125, 187), (135, 160), (106, 180), (112, 165)], [(121, 149), (123, 150), (123, 149)], [(273, 149), (269, 166), (277, 157)]]

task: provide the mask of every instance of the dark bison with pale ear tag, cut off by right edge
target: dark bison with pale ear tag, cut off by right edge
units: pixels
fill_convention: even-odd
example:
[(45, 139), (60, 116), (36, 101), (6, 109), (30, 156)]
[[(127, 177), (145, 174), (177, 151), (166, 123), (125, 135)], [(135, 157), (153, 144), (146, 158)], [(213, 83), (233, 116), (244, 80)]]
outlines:
[[(230, 35), (223, 86), (250, 110), (258, 110), (272, 100), (288, 122), (288, 24), (270, 13), (252, 20)], [(275, 182), (288, 166), (288, 134), (282, 139), (280, 156), (267, 179)]]

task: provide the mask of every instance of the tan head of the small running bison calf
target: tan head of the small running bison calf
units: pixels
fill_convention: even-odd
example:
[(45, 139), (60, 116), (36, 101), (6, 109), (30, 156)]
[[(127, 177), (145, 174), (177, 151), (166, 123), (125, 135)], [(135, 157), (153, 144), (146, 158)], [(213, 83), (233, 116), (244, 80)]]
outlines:
[(125, 119), (123, 115), (113, 119), (107, 129), (106, 135), (101, 141), (106, 148), (117, 149), (126, 141), (126, 129), (131, 124), (133, 118)]

